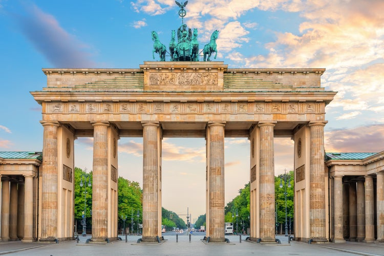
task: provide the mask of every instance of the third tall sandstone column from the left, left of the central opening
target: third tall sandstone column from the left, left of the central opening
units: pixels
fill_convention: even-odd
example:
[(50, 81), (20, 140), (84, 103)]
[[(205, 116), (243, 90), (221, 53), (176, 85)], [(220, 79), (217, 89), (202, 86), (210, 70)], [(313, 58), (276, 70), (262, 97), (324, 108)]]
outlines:
[(159, 233), (158, 123), (143, 123), (143, 242)]

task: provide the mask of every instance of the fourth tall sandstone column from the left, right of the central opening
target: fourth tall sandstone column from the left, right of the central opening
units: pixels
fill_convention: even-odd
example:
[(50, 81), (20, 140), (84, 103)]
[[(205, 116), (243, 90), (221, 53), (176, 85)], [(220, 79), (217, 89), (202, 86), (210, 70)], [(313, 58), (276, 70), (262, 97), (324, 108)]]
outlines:
[(209, 242), (224, 242), (224, 126), (209, 126)]

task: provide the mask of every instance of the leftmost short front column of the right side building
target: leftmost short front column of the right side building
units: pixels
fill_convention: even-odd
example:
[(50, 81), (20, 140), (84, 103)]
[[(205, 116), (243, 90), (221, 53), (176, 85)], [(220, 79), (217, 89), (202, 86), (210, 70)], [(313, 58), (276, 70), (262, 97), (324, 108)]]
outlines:
[(333, 177), (333, 200), (334, 200), (334, 243), (345, 242), (343, 238), (343, 176)]

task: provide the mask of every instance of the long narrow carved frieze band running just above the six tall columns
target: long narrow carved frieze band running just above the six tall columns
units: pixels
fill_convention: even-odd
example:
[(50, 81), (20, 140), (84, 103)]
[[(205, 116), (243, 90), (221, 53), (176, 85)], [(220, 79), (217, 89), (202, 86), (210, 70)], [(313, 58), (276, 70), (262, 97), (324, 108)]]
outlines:
[(122, 114), (304, 114), (322, 111), (312, 102), (50, 102), (48, 113), (122, 113)]

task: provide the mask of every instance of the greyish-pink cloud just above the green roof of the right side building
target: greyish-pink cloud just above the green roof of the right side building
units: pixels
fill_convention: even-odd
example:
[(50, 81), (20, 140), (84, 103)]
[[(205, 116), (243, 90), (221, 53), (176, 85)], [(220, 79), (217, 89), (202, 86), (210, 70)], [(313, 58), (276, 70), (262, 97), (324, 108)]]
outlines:
[(325, 132), (326, 152), (381, 152), (384, 124)]

